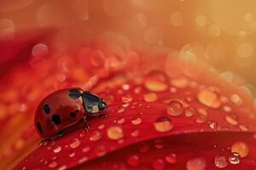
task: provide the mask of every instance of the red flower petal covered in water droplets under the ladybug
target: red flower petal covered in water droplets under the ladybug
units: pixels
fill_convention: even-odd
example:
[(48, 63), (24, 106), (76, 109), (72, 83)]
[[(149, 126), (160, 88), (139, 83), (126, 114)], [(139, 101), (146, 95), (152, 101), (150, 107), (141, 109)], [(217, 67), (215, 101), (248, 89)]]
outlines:
[[(163, 71), (130, 77), (119, 74), (92, 89), (107, 99), (109, 112), (90, 120), (90, 132), (78, 124), (32, 151), (15, 169), (255, 167), (254, 110), (242, 92), (210, 72), (201, 74), (200, 80), (170, 78)], [(249, 152), (238, 150), (245, 156), (235, 165), (227, 156), (240, 140)], [(175, 165), (166, 161), (170, 153), (177, 155)]]

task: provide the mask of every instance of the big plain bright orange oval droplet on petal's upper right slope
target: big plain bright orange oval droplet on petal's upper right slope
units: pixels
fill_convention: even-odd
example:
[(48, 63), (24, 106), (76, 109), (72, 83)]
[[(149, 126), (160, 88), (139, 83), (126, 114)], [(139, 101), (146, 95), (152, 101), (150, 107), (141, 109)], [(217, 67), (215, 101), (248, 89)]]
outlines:
[(197, 95), (197, 99), (200, 101), (201, 104), (207, 105), (208, 107), (213, 109), (218, 109), (218, 107), (221, 105), (221, 102), (218, 99), (218, 94), (212, 92), (209, 89), (201, 90)]

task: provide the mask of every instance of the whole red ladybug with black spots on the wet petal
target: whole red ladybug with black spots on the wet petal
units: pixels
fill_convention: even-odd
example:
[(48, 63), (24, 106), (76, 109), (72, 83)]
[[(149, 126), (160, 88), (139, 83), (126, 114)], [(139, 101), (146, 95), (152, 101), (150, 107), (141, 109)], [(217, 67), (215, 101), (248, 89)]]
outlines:
[(89, 130), (86, 116), (106, 116), (100, 111), (108, 110), (108, 105), (95, 94), (81, 88), (68, 88), (46, 96), (38, 105), (34, 117), (36, 130), (44, 139), (60, 137), (63, 129), (84, 120)]

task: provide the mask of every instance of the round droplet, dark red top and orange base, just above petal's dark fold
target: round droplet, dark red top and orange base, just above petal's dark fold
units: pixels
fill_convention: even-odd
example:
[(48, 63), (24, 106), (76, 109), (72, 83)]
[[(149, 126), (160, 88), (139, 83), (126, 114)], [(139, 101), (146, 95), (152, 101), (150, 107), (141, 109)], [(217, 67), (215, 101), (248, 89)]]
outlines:
[(154, 122), (154, 128), (160, 133), (168, 132), (173, 128), (172, 120), (168, 117), (161, 116)]

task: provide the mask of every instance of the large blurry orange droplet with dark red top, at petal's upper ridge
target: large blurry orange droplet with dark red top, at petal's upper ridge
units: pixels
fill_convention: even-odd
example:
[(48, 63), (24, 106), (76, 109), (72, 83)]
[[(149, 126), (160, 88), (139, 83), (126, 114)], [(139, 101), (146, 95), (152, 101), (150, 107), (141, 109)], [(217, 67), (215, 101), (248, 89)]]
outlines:
[(166, 74), (161, 71), (150, 71), (145, 78), (144, 86), (153, 92), (163, 92), (168, 88)]

